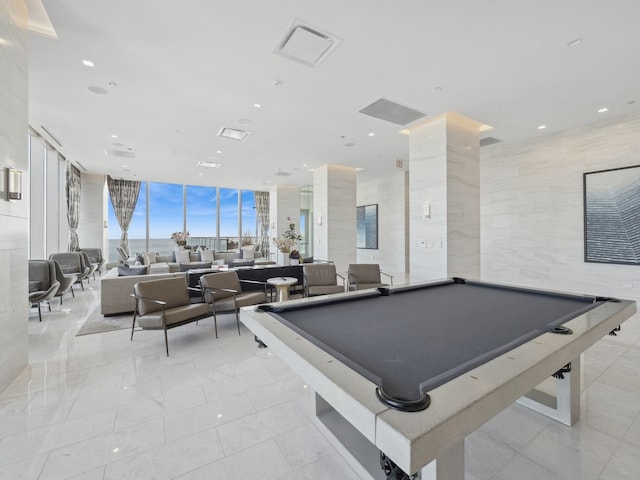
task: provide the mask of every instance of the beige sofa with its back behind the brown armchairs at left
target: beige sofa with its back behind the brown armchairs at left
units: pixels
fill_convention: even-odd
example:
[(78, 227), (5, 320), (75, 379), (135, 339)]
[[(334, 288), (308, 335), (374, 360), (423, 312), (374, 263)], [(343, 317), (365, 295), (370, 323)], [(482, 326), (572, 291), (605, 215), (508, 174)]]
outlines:
[[(146, 270), (144, 267), (141, 270)], [(100, 279), (100, 313), (102, 315), (122, 315), (131, 313), (136, 302), (131, 294), (133, 286), (145, 280), (183, 277), (184, 272), (144, 273), (139, 275), (119, 275), (118, 268), (112, 268)]]

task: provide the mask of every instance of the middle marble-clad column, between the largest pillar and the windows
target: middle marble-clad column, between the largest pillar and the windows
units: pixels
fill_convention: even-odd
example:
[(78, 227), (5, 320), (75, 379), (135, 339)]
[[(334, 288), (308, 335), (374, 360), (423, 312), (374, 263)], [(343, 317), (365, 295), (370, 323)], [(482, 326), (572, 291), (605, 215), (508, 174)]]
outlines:
[(343, 274), (356, 263), (356, 169), (323, 165), (313, 171), (313, 256)]

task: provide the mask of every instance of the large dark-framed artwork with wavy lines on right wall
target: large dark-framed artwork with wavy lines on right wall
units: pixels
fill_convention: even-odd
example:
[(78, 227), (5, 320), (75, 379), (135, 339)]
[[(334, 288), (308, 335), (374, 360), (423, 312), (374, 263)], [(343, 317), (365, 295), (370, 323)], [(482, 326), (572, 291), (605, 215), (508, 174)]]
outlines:
[(640, 165), (587, 172), (584, 261), (640, 265)]

